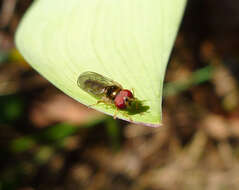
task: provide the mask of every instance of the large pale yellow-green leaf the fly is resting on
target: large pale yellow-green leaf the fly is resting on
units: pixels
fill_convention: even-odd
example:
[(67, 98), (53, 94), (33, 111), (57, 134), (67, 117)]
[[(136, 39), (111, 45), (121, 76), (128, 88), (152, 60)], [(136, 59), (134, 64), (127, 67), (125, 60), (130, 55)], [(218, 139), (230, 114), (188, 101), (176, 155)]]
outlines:
[[(186, 0), (38, 0), (16, 34), (24, 58), (85, 105), (96, 99), (77, 86), (85, 71), (134, 89), (149, 109), (117, 117), (149, 126), (162, 121), (165, 69)], [(93, 106), (114, 115), (115, 108)]]

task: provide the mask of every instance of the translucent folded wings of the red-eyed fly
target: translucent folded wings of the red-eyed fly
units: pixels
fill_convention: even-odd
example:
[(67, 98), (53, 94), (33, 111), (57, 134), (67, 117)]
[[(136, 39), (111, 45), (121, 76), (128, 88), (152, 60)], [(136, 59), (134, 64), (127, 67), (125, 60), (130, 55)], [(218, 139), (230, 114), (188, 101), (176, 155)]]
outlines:
[(77, 80), (77, 84), (82, 90), (98, 98), (104, 96), (104, 89), (107, 86), (116, 85), (122, 88), (121, 85), (115, 81), (90, 71), (82, 73)]

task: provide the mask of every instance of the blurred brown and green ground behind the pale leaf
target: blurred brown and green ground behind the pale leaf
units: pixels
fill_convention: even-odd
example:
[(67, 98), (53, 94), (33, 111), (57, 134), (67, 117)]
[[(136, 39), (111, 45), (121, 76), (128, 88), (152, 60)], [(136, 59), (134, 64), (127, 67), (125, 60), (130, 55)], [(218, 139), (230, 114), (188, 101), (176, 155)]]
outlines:
[(161, 128), (75, 102), (14, 46), (31, 0), (0, 1), (0, 190), (239, 189), (239, 1), (189, 0)]

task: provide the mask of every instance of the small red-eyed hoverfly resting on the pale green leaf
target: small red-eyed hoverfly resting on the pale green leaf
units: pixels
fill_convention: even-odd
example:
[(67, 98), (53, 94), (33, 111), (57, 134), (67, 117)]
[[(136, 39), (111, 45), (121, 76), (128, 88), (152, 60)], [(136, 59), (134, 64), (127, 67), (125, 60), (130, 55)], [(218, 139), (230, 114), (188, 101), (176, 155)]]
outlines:
[(130, 90), (124, 89), (119, 83), (95, 72), (82, 73), (77, 84), (82, 90), (99, 99), (97, 104), (110, 103), (117, 109), (125, 110), (137, 100)]

